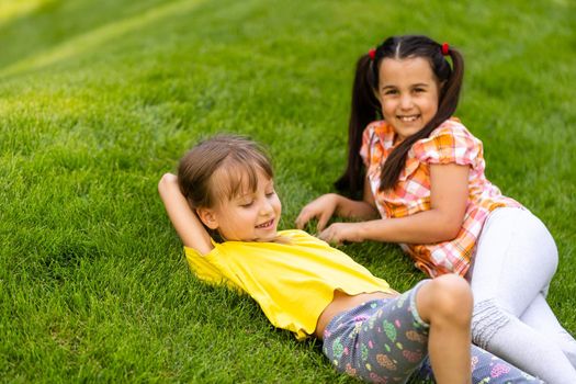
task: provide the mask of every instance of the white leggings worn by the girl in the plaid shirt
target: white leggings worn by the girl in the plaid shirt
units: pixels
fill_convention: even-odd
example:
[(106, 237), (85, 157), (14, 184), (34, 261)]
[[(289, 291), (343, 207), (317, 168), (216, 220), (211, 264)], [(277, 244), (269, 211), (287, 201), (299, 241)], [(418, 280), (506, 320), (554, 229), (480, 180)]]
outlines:
[(576, 341), (546, 303), (554, 239), (527, 210), (501, 207), (478, 239), (471, 285), (472, 339), (550, 384), (576, 383)]

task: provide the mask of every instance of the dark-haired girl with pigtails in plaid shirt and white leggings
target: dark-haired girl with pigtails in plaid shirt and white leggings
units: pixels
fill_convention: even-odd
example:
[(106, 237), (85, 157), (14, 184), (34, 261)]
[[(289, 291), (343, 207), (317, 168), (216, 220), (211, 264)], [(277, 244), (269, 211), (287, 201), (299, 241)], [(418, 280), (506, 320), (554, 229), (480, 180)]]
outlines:
[[(296, 225), (317, 218), (318, 236), (336, 244), (399, 242), (430, 276), (466, 276), (478, 346), (545, 382), (576, 383), (576, 341), (545, 301), (556, 246), (486, 179), (482, 142), (453, 117), (463, 70), (456, 49), (426, 36), (389, 37), (363, 55), (336, 184), (362, 200), (323, 195)], [(360, 222), (327, 227), (332, 215)]]

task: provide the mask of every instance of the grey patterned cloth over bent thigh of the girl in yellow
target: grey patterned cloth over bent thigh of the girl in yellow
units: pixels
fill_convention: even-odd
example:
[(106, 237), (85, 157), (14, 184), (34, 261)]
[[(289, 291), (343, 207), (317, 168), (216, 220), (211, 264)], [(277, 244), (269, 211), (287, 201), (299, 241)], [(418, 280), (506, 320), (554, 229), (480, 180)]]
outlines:
[(427, 354), (429, 327), (416, 312), (417, 291), (337, 315), (323, 345), (336, 369), (369, 382), (406, 381)]

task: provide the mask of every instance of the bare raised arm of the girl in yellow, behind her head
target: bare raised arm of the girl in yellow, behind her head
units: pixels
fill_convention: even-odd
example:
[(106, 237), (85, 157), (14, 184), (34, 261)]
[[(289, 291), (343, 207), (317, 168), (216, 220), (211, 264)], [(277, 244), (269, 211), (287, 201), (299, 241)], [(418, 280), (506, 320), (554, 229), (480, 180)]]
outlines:
[(184, 247), (193, 248), (201, 255), (208, 253), (214, 248), (210, 234), (180, 192), (178, 177), (172, 173), (163, 174), (158, 183), (158, 192)]

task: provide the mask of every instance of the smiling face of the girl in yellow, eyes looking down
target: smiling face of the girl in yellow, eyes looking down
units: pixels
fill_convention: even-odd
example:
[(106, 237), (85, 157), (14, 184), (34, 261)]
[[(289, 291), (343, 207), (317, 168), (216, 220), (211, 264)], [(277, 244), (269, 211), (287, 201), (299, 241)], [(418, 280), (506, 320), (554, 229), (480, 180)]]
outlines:
[[(218, 178), (217, 174), (214, 177)], [(272, 241), (276, 237), (282, 213), (274, 181), (260, 169), (253, 191), (248, 180), (248, 176), (242, 176), (236, 195), (221, 199), (213, 208), (199, 210), (199, 215), (208, 228), (217, 229), (225, 240)]]

